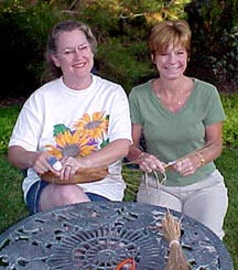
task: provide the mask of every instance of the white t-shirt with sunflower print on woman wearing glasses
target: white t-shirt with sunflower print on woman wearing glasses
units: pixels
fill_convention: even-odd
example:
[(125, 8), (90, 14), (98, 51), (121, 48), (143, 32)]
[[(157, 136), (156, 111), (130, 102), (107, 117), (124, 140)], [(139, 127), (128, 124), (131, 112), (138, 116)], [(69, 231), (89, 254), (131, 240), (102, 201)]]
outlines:
[[(83, 90), (68, 88), (62, 78), (52, 80), (25, 101), (14, 126), (9, 147), (28, 151), (45, 149), (57, 158), (87, 155), (117, 139), (131, 141), (128, 98), (120, 85), (93, 76)], [(24, 198), (40, 177), (28, 170), (22, 187)], [(99, 182), (79, 184), (85, 192), (121, 201), (126, 184), (121, 161), (109, 166), (109, 175)]]

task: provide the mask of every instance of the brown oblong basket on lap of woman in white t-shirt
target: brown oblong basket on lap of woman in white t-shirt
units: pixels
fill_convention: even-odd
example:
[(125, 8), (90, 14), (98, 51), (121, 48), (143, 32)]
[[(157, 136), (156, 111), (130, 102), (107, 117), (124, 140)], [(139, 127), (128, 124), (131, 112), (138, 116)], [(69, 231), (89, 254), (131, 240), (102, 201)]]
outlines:
[(53, 184), (68, 185), (68, 184), (96, 182), (102, 180), (107, 175), (108, 175), (108, 168), (91, 168), (91, 169), (79, 169), (67, 181), (60, 180), (60, 177), (57, 177), (54, 173), (50, 171), (42, 174), (41, 179)]

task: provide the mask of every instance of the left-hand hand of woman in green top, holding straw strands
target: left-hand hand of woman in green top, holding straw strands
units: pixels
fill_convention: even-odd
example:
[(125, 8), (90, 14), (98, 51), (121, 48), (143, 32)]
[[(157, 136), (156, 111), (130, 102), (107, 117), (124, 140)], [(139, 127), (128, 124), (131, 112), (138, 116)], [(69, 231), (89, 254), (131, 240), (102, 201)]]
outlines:
[(137, 159), (137, 163), (140, 169), (145, 173), (151, 173), (153, 170), (161, 173), (165, 172), (164, 164), (154, 155), (141, 152)]

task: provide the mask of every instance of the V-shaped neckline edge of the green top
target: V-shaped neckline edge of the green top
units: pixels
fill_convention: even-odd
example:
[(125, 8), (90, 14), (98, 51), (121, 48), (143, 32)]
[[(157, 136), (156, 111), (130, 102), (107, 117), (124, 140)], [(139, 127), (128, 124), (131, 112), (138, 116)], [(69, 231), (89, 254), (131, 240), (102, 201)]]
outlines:
[(152, 79), (149, 82), (150, 83), (150, 91), (151, 95), (153, 97), (153, 99), (155, 99), (156, 104), (160, 106), (160, 108), (169, 116), (176, 116), (182, 114), (187, 106), (191, 104), (191, 100), (193, 98), (193, 96), (195, 95), (195, 88), (197, 87), (197, 79), (196, 78), (191, 78), (194, 82), (194, 87), (192, 88), (191, 95), (187, 97), (186, 102), (184, 105), (182, 105), (178, 110), (176, 110), (175, 112), (173, 112), (172, 110), (170, 110), (167, 107), (165, 107), (163, 105), (163, 102), (160, 100), (160, 98), (156, 96), (156, 94), (153, 90), (153, 86), (152, 86)]

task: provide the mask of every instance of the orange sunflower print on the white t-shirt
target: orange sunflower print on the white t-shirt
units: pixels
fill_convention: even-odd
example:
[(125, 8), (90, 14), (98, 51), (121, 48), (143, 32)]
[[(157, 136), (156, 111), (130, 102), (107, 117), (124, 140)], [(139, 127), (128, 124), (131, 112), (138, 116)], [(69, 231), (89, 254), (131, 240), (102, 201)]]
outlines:
[(64, 123), (54, 126), (53, 136), (55, 145), (45, 145), (46, 151), (57, 159), (64, 156), (82, 158), (109, 143), (108, 133), (109, 115), (105, 112), (88, 114), (75, 122), (74, 129)]

